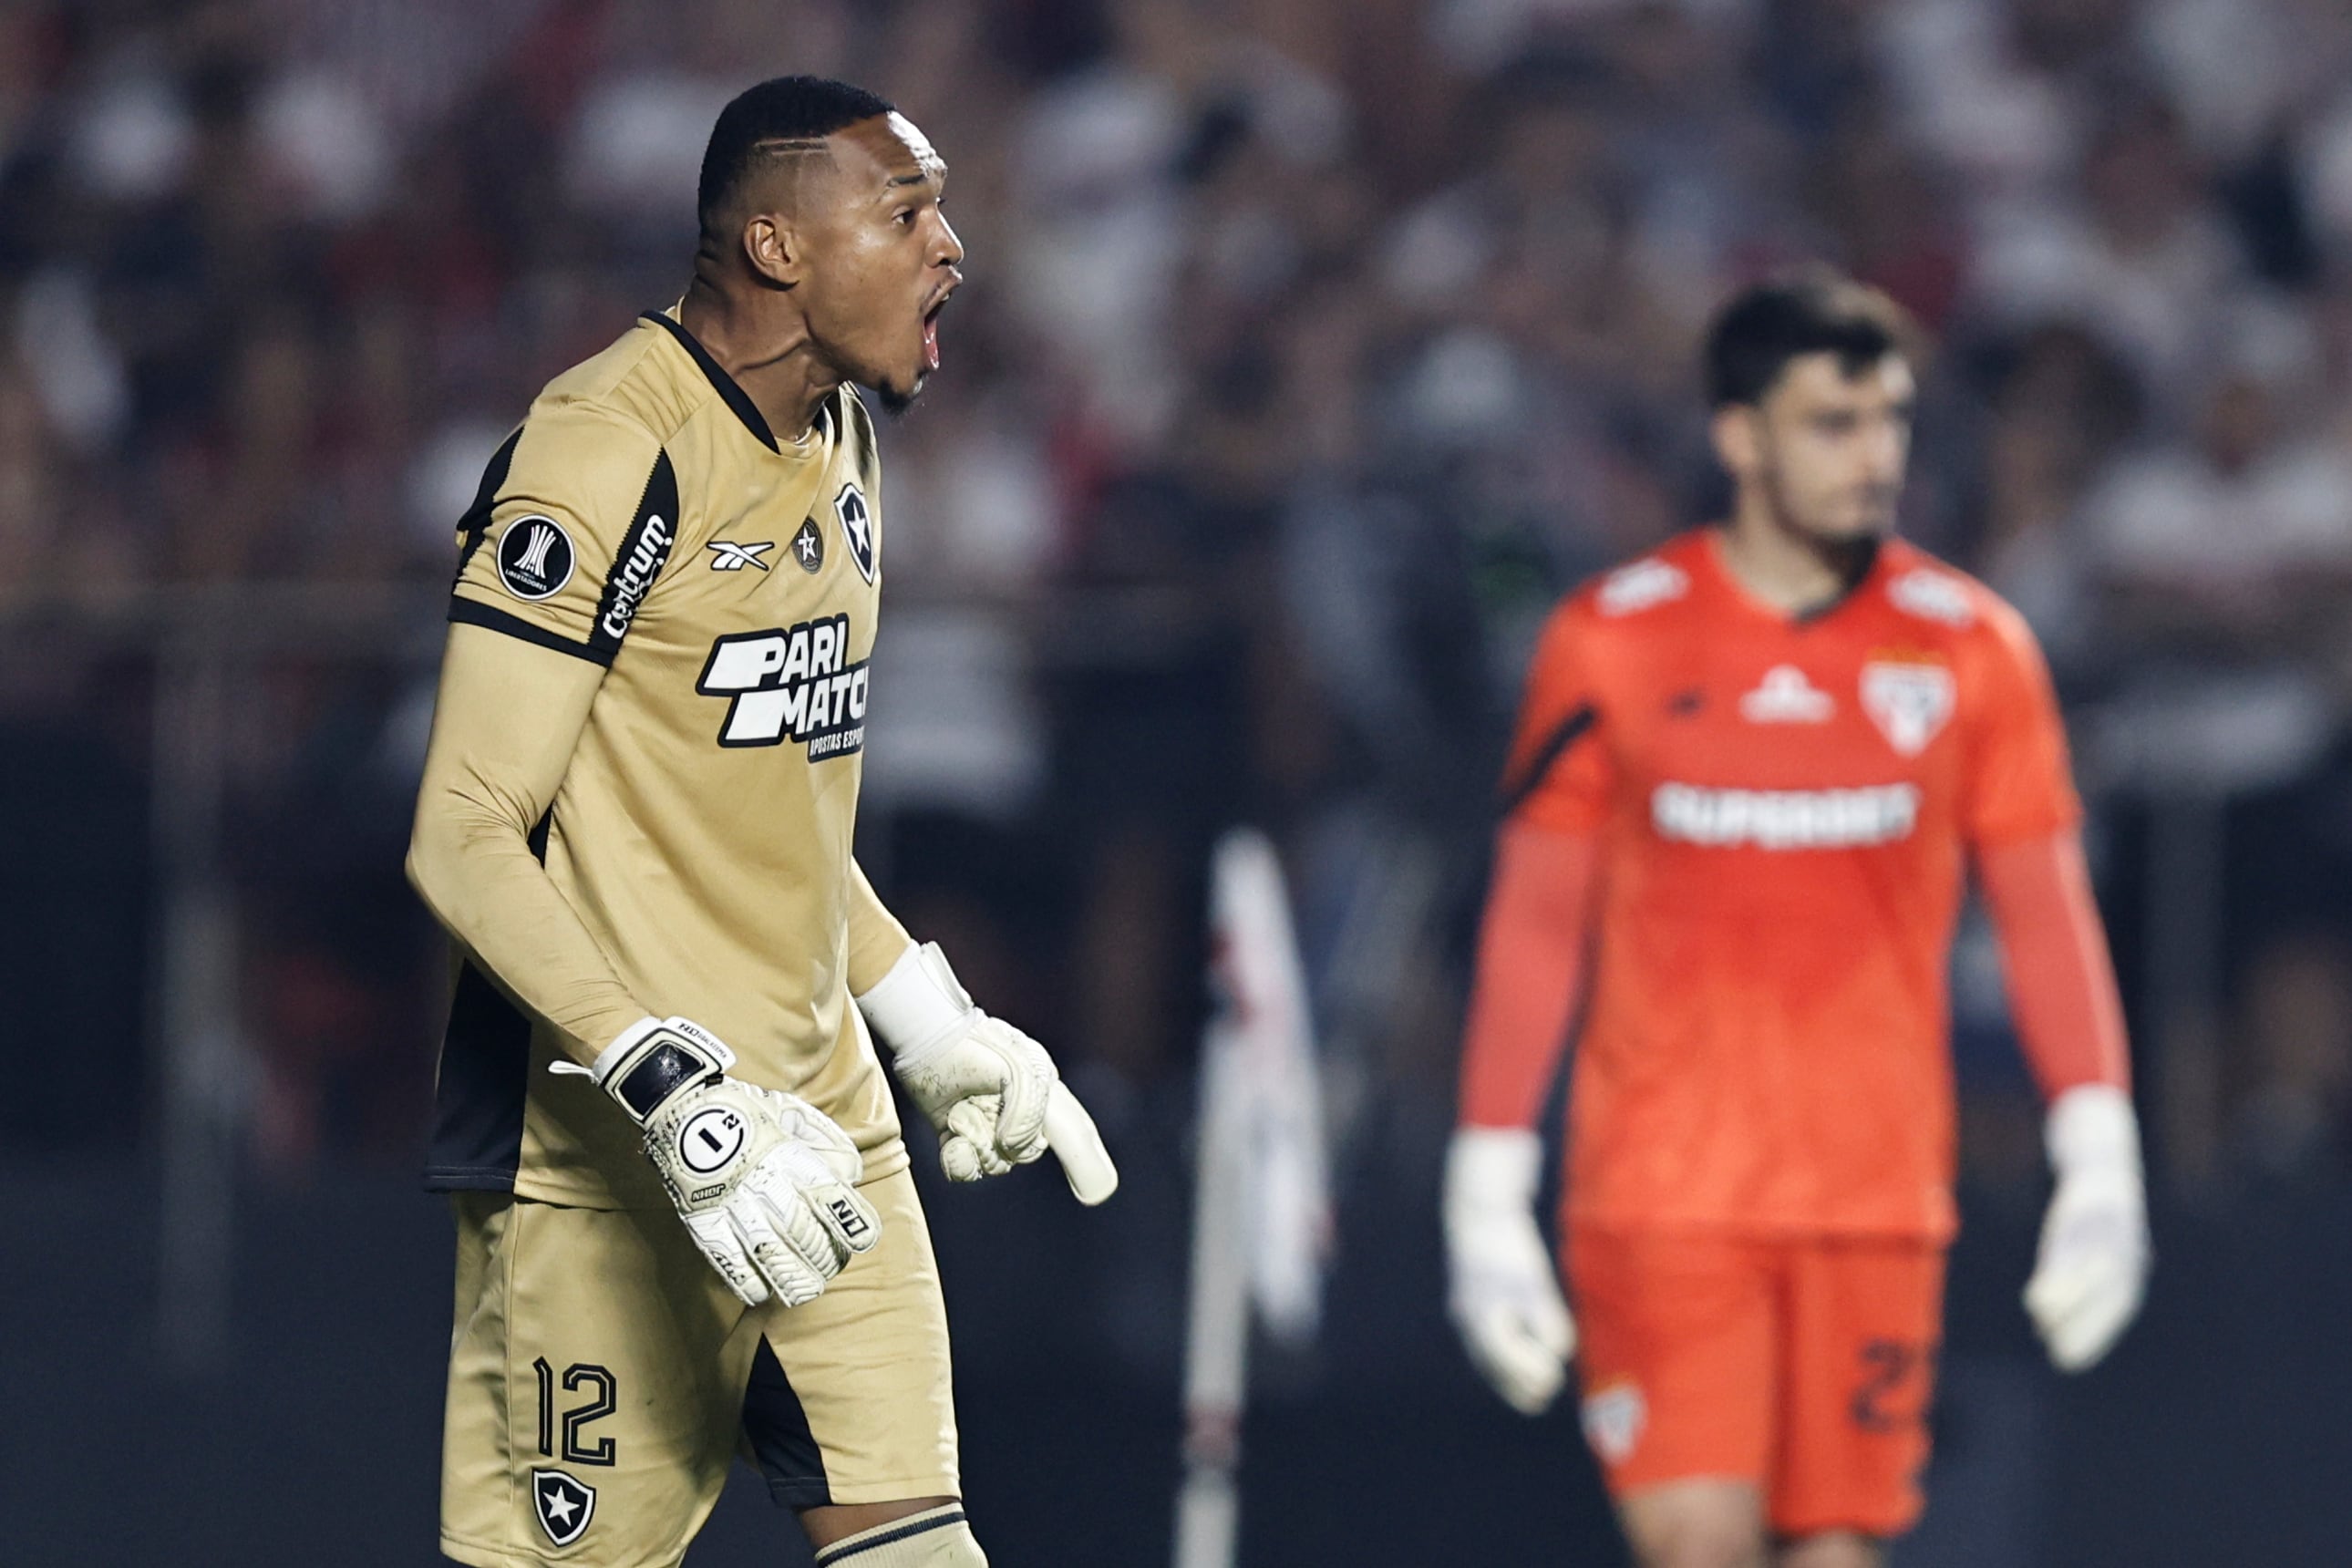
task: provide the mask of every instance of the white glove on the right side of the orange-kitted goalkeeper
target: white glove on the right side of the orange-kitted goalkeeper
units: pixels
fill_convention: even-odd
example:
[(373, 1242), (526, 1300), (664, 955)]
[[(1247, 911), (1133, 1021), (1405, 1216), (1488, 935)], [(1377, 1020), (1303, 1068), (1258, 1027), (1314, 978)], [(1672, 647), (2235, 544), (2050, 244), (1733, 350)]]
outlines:
[(2063, 1373), (2096, 1366), (2140, 1312), (2147, 1288), (2147, 1197), (2140, 1124), (2107, 1084), (2070, 1088), (2044, 1124), (2058, 1190), (2025, 1309)]

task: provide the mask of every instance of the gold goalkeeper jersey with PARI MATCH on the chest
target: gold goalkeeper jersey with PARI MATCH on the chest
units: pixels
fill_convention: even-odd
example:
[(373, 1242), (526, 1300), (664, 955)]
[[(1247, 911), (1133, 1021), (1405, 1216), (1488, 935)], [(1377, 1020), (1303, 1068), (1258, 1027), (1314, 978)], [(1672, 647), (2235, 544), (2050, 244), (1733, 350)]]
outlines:
[[(906, 1164), (847, 983), (877, 480), (851, 388), (779, 442), (675, 310), (649, 313), (492, 458), (449, 607), (604, 668), (532, 851), (633, 997), (840, 1121), (868, 1178)], [(668, 1206), (637, 1128), (548, 1072), (564, 1048), (510, 990), (459, 954), (428, 1185)]]

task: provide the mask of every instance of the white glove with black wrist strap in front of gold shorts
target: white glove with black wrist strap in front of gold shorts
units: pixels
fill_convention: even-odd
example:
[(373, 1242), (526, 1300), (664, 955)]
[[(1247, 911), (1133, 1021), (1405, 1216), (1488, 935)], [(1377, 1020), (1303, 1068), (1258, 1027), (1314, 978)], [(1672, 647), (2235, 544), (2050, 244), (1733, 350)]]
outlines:
[(644, 1128), (644, 1157), (743, 1305), (774, 1293), (800, 1307), (882, 1234), (856, 1190), (866, 1159), (833, 1117), (729, 1067), (734, 1051), (701, 1025), (640, 1018), (593, 1067), (553, 1070), (595, 1077)]

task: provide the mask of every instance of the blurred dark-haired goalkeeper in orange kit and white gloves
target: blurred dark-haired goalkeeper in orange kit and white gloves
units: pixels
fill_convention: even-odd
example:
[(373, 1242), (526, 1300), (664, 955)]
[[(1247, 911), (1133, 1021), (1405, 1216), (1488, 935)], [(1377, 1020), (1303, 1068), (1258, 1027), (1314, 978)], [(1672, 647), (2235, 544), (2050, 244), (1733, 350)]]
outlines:
[[(1891, 538), (1910, 329), (1748, 289), (1705, 350), (1729, 522), (1543, 632), (1446, 1159), (1451, 1309), (1583, 1425), (1644, 1568), (1865, 1568), (1919, 1516), (1955, 1232), (1945, 966), (1973, 867), (2058, 1175), (2025, 1307), (2065, 1371), (2147, 1272), (2122, 1006), (2042, 654)], [(1531, 1131), (1576, 1046), (1562, 1300)]]

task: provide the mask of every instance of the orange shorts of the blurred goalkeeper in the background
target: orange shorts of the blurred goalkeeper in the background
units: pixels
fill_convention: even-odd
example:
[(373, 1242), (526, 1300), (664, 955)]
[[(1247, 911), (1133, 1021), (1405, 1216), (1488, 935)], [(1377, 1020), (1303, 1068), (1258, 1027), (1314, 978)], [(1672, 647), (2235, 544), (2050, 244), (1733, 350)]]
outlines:
[(1729, 1476), (1783, 1537), (1919, 1519), (1940, 1244), (1571, 1225), (1566, 1267), (1616, 1497)]

